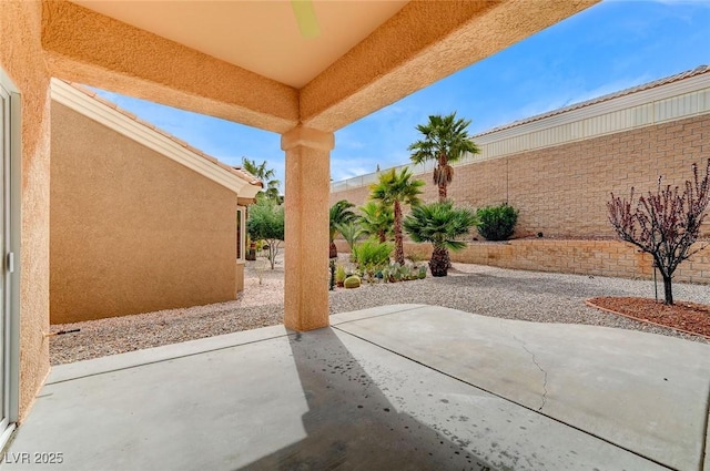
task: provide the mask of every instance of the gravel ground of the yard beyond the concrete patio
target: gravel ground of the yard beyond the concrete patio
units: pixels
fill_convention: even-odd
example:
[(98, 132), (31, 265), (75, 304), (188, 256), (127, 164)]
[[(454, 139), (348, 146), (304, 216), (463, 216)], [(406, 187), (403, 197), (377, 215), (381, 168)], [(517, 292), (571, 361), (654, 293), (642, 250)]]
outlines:
[[(51, 337), (51, 362), (68, 364), (281, 324), (282, 260), (283, 257), (273, 272), (262, 269), (261, 260), (248, 262), (245, 290), (234, 301), (52, 326), (52, 331), (75, 328), (81, 331)], [(507, 319), (587, 324), (709, 342), (702, 337), (638, 322), (584, 304), (596, 296), (652, 297), (653, 283), (649, 280), (453, 265), (446, 278), (338, 288), (329, 294), (331, 314), (388, 304), (430, 304)], [(662, 285), (659, 289), (662, 291)], [(710, 305), (710, 287), (704, 285), (674, 284), (673, 295), (678, 300)]]

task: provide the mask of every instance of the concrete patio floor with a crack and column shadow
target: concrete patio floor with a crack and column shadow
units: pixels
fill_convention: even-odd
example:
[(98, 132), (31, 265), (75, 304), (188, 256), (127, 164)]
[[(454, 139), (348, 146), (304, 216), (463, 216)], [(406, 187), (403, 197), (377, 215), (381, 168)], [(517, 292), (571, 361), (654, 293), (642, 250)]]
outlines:
[(708, 345), (422, 305), (331, 319), (54, 367), (0, 468), (710, 469)]

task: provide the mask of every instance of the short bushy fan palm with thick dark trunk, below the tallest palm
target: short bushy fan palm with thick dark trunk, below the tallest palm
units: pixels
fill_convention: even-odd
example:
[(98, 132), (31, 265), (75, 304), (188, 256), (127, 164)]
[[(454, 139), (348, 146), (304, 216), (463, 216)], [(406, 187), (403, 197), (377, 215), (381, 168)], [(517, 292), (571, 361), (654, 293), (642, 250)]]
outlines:
[(404, 219), (404, 229), (416, 243), (428, 242), (434, 245), (429, 269), (432, 276), (446, 276), (448, 273), (448, 250), (460, 250), (466, 243), (459, 238), (468, 234), (476, 224), (476, 215), (468, 208), (455, 208), (454, 203), (432, 203), (415, 206)]

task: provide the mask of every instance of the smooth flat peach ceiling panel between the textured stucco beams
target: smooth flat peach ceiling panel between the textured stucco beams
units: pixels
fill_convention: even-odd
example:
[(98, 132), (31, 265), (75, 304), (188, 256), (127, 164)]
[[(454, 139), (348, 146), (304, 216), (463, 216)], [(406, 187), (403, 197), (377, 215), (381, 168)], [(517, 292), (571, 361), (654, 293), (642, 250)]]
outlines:
[(315, 0), (321, 34), (307, 39), (291, 1), (72, 1), (296, 89), (408, 3)]

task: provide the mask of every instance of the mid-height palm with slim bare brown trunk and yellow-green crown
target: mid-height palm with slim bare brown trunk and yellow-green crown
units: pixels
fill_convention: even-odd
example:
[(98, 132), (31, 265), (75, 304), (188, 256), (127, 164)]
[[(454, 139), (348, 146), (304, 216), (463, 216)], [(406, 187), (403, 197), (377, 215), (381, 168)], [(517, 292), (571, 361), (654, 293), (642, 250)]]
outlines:
[(372, 185), (371, 197), (394, 208), (395, 262), (404, 265), (404, 243), (402, 239), (402, 205), (417, 206), (422, 201), (422, 180), (412, 180), (412, 172), (404, 167), (399, 174), (395, 168), (379, 175), (379, 182)]

